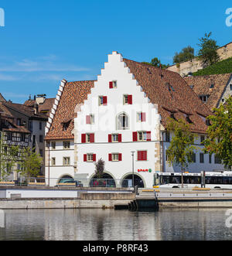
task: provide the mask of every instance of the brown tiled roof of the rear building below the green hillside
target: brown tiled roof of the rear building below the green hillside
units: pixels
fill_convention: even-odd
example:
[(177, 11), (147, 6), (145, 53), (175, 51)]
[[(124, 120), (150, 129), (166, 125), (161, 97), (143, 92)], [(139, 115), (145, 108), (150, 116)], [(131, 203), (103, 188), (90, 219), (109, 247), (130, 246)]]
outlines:
[[(231, 77), (232, 73), (225, 73), (200, 77), (186, 77), (184, 79), (189, 86), (193, 86), (193, 90), (198, 96), (209, 96), (206, 105), (213, 110), (213, 108), (218, 107), (220, 97)], [(214, 85), (213, 88), (211, 88), (212, 85)]]

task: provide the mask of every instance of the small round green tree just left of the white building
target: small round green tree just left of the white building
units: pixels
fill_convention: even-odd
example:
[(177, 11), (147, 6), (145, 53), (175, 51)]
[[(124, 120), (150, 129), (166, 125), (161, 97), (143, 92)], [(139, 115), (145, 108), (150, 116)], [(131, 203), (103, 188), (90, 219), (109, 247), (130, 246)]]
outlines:
[(43, 159), (32, 148), (22, 148), (21, 170), (19, 172), (25, 176), (29, 182), (30, 177), (36, 177), (39, 174)]

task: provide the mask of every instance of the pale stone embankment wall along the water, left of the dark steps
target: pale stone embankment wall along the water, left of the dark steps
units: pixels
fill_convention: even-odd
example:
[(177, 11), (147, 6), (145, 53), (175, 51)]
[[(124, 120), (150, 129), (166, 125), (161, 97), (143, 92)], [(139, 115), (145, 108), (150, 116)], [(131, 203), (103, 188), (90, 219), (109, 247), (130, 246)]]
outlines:
[(114, 209), (135, 199), (133, 193), (81, 193), (80, 198), (0, 199), (0, 209)]

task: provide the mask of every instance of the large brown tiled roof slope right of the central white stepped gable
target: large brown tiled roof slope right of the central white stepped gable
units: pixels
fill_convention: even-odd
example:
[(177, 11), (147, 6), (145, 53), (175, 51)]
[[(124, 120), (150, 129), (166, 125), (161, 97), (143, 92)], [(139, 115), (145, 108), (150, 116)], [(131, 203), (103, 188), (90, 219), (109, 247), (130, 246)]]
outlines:
[(186, 116), (189, 116), (189, 120), (193, 122), (192, 131), (206, 133), (208, 127), (205, 118), (212, 112), (179, 73), (151, 67), (133, 60), (123, 59), (123, 61), (134, 74), (152, 104), (158, 104), (164, 127), (171, 114), (176, 119), (183, 118), (184, 120)]

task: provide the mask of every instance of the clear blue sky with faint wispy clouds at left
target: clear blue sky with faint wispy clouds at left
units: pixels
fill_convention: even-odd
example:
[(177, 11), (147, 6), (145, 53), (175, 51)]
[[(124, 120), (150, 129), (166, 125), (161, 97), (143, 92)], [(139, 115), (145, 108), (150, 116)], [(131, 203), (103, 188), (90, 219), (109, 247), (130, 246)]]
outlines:
[(219, 46), (232, 41), (227, 0), (2, 0), (0, 8), (0, 92), (19, 103), (29, 94), (55, 97), (63, 78), (96, 79), (112, 51), (172, 64), (183, 47), (197, 51), (206, 32)]

